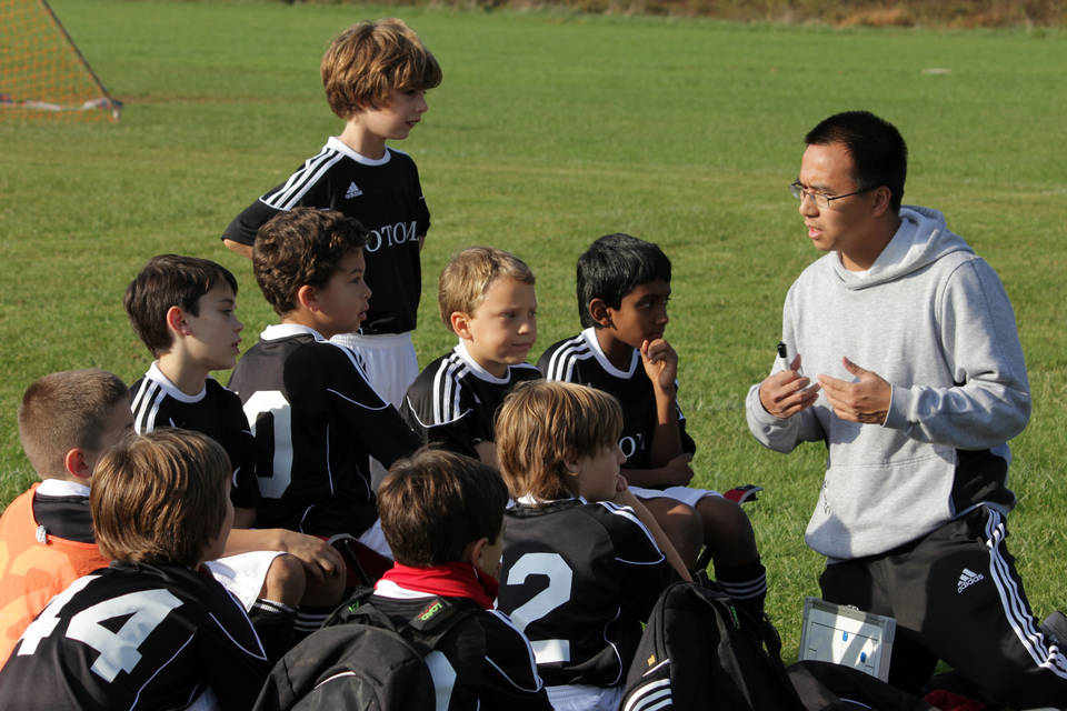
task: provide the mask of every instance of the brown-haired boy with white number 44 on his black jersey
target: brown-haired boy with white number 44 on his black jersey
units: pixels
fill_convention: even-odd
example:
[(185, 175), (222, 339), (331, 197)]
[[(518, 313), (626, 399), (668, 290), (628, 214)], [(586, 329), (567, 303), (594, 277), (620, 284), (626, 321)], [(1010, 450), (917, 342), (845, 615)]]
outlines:
[(248, 709), (267, 658), (245, 610), (201, 563), (233, 522), (230, 463), (186, 430), (103, 455), (91, 507), (110, 567), (76, 580), (26, 629), (0, 670), (19, 709)]

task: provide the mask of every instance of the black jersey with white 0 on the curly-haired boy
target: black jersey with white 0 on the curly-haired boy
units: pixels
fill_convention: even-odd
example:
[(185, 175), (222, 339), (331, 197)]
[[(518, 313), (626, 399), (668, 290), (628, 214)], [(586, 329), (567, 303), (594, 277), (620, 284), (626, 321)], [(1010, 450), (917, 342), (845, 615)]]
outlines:
[(253, 423), (259, 528), (358, 537), (378, 518), (368, 455), (389, 467), (419, 447), (355, 353), (303, 326), (268, 327), (230, 388)]

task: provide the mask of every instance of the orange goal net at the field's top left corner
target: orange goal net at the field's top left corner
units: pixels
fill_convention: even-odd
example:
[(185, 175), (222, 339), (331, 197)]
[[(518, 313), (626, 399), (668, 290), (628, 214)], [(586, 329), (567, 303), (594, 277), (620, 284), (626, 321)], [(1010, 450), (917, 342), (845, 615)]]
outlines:
[(0, 121), (118, 121), (121, 109), (46, 0), (0, 0)]

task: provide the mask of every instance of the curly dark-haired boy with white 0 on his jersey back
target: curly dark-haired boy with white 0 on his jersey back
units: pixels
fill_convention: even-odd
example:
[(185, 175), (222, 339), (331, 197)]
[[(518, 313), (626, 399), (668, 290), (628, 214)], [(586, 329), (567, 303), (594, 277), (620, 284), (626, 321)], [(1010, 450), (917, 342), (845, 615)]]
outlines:
[(419, 445), (367, 382), (356, 354), (327, 339), (367, 316), (367, 230), (336, 210), (296, 208), (259, 230), (256, 281), (281, 317), (233, 369), (230, 388), (256, 435), (256, 524), (348, 534), (389, 555), (369, 457), (385, 464)]

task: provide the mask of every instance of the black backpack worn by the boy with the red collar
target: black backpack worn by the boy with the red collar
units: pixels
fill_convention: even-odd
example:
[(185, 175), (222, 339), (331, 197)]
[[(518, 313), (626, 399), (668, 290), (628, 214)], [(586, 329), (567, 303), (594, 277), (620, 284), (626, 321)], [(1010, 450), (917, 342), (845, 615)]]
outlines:
[(410, 620), (396, 620), (367, 602), (371, 593), (357, 592), (286, 653), (253, 711), (432, 711), (423, 659), (479, 608), (435, 598)]

